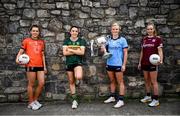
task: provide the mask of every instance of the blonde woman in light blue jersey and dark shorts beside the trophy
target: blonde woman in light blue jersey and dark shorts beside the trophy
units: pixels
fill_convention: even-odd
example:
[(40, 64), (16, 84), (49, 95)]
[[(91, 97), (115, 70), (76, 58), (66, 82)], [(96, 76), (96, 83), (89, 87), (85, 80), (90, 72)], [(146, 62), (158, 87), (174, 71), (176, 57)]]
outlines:
[[(125, 94), (125, 85), (123, 80), (123, 72), (126, 70), (126, 62), (128, 55), (128, 44), (124, 37), (120, 36), (121, 27), (118, 23), (112, 23), (111, 36), (108, 37), (106, 49), (112, 54), (107, 59), (106, 70), (110, 79), (110, 97), (104, 103), (117, 101), (114, 108), (124, 105), (123, 97)], [(116, 95), (116, 82), (119, 87), (119, 94)]]

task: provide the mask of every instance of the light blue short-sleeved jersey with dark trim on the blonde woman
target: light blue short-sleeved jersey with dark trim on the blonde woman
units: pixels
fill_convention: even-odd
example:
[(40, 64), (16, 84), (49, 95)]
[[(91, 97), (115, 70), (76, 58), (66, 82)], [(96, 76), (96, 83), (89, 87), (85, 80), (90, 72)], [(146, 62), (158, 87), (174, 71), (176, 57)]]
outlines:
[(112, 57), (107, 59), (107, 65), (110, 66), (122, 66), (124, 58), (124, 48), (128, 48), (127, 41), (124, 37), (118, 37), (112, 39), (111, 36), (107, 38), (107, 49), (112, 54)]

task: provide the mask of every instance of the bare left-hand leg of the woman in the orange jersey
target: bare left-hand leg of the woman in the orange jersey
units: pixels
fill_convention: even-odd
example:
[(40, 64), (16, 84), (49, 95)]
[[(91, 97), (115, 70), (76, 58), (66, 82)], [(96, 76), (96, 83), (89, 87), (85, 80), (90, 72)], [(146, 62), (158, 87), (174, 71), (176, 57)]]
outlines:
[(36, 80), (36, 72), (26, 72), (26, 76), (28, 79), (28, 87), (27, 87), (27, 92), (28, 92), (28, 97), (29, 97), (29, 104), (34, 101), (34, 81)]

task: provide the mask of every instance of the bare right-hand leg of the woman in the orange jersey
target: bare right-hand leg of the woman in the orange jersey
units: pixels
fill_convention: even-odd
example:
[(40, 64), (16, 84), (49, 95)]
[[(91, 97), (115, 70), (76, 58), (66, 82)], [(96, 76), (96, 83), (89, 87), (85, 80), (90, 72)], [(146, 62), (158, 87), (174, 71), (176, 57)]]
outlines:
[(45, 84), (44, 71), (37, 71), (37, 80), (38, 80), (38, 86), (35, 91), (34, 100), (38, 100), (38, 97), (41, 94), (41, 91), (44, 87)]

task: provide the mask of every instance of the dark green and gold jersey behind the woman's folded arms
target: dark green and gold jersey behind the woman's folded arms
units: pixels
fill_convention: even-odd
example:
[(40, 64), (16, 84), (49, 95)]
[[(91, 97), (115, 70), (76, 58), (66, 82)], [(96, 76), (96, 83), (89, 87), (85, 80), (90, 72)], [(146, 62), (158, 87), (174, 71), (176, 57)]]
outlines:
[[(65, 39), (63, 47), (67, 46), (72, 49), (78, 49), (80, 47), (85, 47), (86, 42), (84, 39), (78, 38), (76, 41), (72, 41), (70, 38)], [(72, 64), (82, 64), (82, 55), (69, 55), (66, 56), (66, 65)]]

